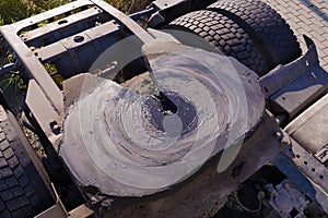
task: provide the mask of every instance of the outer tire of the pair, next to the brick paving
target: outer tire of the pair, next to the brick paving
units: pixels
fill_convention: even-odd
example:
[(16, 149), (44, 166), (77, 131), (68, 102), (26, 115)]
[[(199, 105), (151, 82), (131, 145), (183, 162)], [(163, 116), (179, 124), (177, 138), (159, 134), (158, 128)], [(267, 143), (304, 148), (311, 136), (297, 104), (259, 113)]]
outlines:
[(253, 40), (263, 45), (270, 58), (269, 68), (289, 63), (302, 55), (289, 24), (260, 0), (220, 0), (208, 7), (237, 23)]

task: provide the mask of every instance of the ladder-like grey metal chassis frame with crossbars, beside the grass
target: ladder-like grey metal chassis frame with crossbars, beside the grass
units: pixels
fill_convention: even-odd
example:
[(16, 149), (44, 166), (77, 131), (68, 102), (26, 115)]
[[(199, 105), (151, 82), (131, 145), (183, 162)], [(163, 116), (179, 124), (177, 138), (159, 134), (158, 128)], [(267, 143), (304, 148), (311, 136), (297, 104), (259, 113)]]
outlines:
[[(91, 5), (94, 5), (94, 8), (90, 8)], [(68, 15), (78, 9), (82, 11)], [(151, 12), (151, 10), (148, 10), (143, 13), (140, 12), (139, 15)], [(55, 16), (63, 14), (65, 19), (55, 21)], [(138, 14), (131, 16), (138, 17)], [(109, 21), (113, 17), (119, 21)], [(103, 22), (103, 25), (97, 26), (96, 19)], [(38, 26), (44, 21), (49, 23)], [(89, 26), (87, 22), (95, 22), (95, 26)], [(131, 17), (101, 0), (94, 2), (89, 0), (74, 1), (0, 27), (1, 37), (17, 58), (19, 64), (15, 66), (24, 69), (22, 71), (35, 81), (36, 85), (34, 87), (37, 86), (39, 89), (35, 93), (32, 92), (35, 88), (28, 88), (27, 105), (34, 117), (37, 117), (38, 124), (45, 134), (49, 138), (52, 137), (50, 141), (54, 141), (54, 137), (58, 135), (57, 133), (54, 134), (54, 130), (51, 130), (54, 123), (61, 128), (63, 121), (63, 98), (61, 90), (52, 81), (44, 64), (54, 61), (62, 77), (87, 72), (96, 57), (110, 45), (125, 37), (121, 33), (120, 35), (115, 33), (125, 25), (130, 29), (128, 34), (134, 34), (141, 41), (153, 39)], [(21, 31), (22, 34), (19, 36), (17, 34)], [(12, 68), (2, 69), (2, 72), (8, 70), (12, 70)], [(31, 96), (40, 93), (42, 95), (38, 95), (37, 98), (31, 98)], [(38, 105), (46, 101), (48, 101), (46, 105), (52, 107), (52, 109), (48, 111), (39, 110)], [(58, 128), (56, 129), (58, 130)]]

